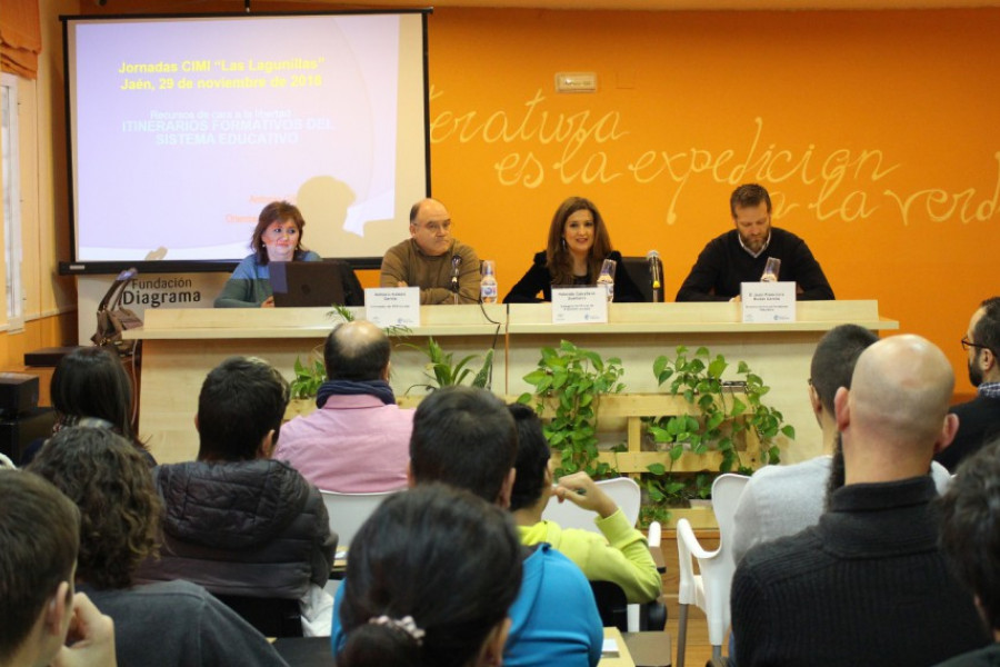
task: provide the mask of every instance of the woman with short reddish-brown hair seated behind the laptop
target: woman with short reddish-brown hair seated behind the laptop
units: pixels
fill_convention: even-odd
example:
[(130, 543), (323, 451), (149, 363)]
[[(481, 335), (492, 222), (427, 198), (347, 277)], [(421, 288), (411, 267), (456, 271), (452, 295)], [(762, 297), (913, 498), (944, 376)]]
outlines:
[(320, 261), (320, 256), (302, 247), (306, 220), (293, 205), (272, 201), (260, 211), (249, 255), (216, 299), (216, 308), (273, 308), (270, 269), (272, 261)]

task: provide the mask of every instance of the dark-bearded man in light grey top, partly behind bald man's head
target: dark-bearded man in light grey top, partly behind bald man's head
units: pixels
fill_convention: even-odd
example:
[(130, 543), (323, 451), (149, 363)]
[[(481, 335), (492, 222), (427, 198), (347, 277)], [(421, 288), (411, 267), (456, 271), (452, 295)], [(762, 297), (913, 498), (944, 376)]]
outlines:
[[(809, 402), (822, 430), (823, 455), (793, 466), (767, 466), (753, 474), (736, 509), (732, 531), (736, 563), (754, 545), (794, 535), (819, 521), (826, 504), (831, 455), (838, 442), (833, 396), (841, 387), (851, 388), (854, 362), (878, 339), (858, 325), (840, 325), (830, 329), (816, 346)], [(839, 474), (842, 475), (842, 470)], [(948, 470), (934, 462), (931, 464), (931, 476), (939, 491), (951, 481)]]

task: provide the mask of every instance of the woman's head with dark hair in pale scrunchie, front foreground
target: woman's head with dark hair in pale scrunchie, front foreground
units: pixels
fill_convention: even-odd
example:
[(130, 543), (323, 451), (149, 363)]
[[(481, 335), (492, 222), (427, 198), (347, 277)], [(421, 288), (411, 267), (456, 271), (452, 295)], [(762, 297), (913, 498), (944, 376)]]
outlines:
[(507, 512), (444, 485), (396, 494), (351, 542), (337, 665), (500, 665), (520, 585)]

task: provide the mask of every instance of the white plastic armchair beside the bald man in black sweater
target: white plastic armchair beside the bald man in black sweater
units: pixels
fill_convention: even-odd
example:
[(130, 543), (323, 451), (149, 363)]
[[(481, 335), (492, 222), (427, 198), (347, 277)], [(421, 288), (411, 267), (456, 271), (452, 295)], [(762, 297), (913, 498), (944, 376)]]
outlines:
[[(696, 605), (708, 618), (709, 644), (712, 645), (712, 666), (722, 665), (722, 644), (729, 628), (729, 589), (736, 564), (732, 560), (732, 526), (737, 501), (749, 477), (720, 475), (712, 484), (712, 509), (719, 522), (719, 548), (706, 551), (694, 537), (688, 519), (677, 522), (677, 552), (680, 560), (680, 617), (677, 631), (677, 667), (684, 667), (688, 633), (688, 607)], [(698, 561), (694, 574), (692, 558)]]

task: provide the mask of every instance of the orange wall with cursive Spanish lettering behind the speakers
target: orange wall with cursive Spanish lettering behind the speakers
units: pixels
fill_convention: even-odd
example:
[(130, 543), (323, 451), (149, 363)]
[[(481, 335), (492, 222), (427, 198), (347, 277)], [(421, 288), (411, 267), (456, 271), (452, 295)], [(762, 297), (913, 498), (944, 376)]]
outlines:
[[(231, 3), (198, 11), (220, 9)], [(660, 251), (672, 295), (731, 225), (732, 189), (759, 181), (774, 223), (808, 240), (839, 298), (878, 299), (941, 346), (971, 391), (958, 340), (1000, 293), (997, 34), (998, 9), (438, 9), (433, 192), (457, 236), (497, 260), (501, 293), (557, 205), (582, 195), (618, 249)], [(560, 71), (597, 73), (598, 92), (557, 94)]]

